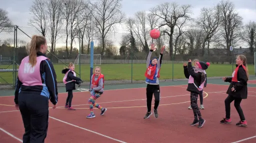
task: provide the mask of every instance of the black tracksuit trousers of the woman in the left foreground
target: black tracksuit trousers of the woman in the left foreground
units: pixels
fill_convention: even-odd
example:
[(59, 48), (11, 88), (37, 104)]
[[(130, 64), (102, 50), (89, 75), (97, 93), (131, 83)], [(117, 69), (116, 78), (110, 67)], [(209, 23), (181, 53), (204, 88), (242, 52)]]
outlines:
[(35, 93), (19, 93), (18, 107), (25, 133), (23, 143), (42, 143), (48, 128), (48, 98)]

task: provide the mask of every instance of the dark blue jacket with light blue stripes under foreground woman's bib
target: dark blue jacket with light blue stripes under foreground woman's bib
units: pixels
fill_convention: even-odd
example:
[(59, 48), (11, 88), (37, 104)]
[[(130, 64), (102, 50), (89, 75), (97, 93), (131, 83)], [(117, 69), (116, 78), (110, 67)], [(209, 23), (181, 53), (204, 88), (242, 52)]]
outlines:
[[(37, 52), (37, 56), (43, 55), (42, 52)], [(22, 85), (21, 81), (17, 77), (16, 87), (15, 87), (15, 97), (14, 102), (18, 104), (18, 93), (35, 93), (41, 94), (43, 90), (44, 92), (48, 93), (47, 96), (52, 102), (52, 104), (56, 104), (58, 100), (58, 90), (57, 90), (57, 81), (56, 81), (56, 73), (54, 67), (49, 59), (42, 60), (40, 63), (40, 74), (42, 83), (45, 82), (47, 88), (43, 88), (42, 85), (35, 85), (35, 86), (25, 86)], [(44, 76), (43, 76), (44, 74)]]

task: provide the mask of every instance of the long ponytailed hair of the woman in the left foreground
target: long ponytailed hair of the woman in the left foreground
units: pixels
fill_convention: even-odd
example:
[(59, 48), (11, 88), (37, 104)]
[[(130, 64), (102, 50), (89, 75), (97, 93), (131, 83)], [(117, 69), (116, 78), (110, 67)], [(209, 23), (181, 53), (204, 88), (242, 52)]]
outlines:
[(29, 63), (34, 66), (36, 64), (36, 52), (40, 50), (40, 46), (46, 43), (44, 36), (33, 35), (30, 42)]

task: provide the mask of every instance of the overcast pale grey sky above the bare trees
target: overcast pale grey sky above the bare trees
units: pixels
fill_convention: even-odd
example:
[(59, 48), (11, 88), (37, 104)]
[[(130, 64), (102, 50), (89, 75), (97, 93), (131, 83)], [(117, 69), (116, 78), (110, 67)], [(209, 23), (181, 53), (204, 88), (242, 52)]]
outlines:
[[(31, 15), (29, 7), (34, 0), (0, 0), (0, 8), (8, 11), (8, 17), (13, 24), (28, 27), (27, 22)], [(191, 4), (193, 17), (198, 16), (200, 8), (216, 5), (220, 0), (123, 0), (122, 11), (126, 16), (132, 16), (138, 10), (148, 10), (162, 2), (176, 1), (179, 4)], [(243, 17), (243, 22), (256, 21), (256, 0), (230, 0), (236, 10)]]

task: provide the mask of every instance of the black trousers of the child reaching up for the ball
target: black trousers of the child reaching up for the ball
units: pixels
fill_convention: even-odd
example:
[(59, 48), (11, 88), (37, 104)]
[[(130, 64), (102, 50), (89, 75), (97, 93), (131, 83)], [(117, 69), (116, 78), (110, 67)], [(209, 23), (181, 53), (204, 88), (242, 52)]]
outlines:
[(156, 110), (160, 101), (160, 88), (159, 85), (147, 84), (146, 85), (146, 106), (147, 111), (151, 111), (151, 101), (154, 94), (154, 109)]

